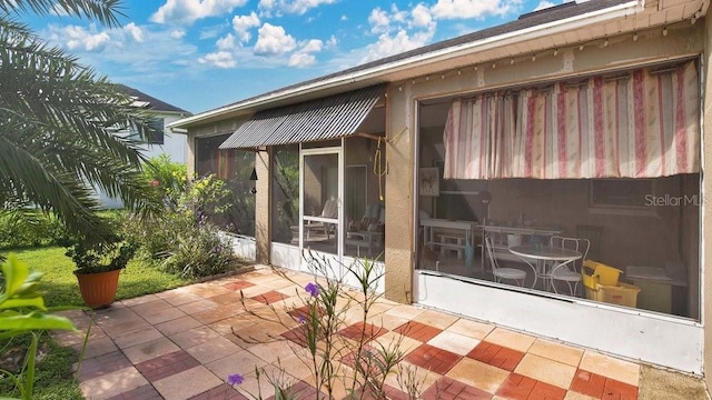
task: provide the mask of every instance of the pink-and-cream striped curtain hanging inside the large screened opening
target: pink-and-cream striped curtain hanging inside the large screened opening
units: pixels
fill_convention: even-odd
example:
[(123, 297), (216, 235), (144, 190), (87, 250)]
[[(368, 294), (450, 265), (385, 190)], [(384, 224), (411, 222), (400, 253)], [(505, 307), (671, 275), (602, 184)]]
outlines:
[(500, 106), (498, 98), (507, 99), (453, 102), (444, 134), (445, 179), (654, 178), (700, 171), (694, 61), (668, 71), (639, 69), (521, 90), (508, 106)]

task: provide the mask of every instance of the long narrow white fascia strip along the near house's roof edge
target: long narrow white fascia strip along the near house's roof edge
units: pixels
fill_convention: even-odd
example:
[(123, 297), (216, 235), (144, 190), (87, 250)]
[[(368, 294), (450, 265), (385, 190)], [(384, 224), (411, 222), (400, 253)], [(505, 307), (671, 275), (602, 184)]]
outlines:
[(181, 120), (171, 122), (170, 124), (168, 124), (168, 128), (188, 128), (207, 122), (209, 120), (222, 119), (221, 117), (239, 117), (243, 114), (249, 114), (260, 107), (277, 101), (295, 99), (323, 90), (328, 90), (366, 80), (372, 80), (372, 82), (375, 82), (375, 80), (377, 80), (378, 78), (384, 78), (389, 73), (398, 72), (406, 69), (413, 69), (433, 62), (439, 62), (455, 57), (461, 57), (463, 53), (472, 53), (473, 50), (476, 50), (478, 52), (487, 51), (494, 48), (510, 46), (523, 40), (537, 39), (541, 37), (565, 32), (584, 26), (600, 23), (611, 19), (630, 17), (637, 11), (643, 11), (643, 9), (644, 6), (642, 1), (632, 0), (614, 7), (605, 8), (603, 10), (587, 12), (560, 21), (543, 23), (536, 27), (502, 33), (492, 38), (485, 38), (482, 40), (475, 40), (445, 49), (434, 50), (427, 53), (413, 56), (407, 59), (374, 66), (373, 68), (355, 71), (352, 73), (338, 74), (329, 79), (312, 81), (304, 86), (291, 87), (288, 90), (284, 91), (275, 91), (264, 97), (256, 97), (243, 102), (233, 103), (226, 107), (198, 113), (192, 117), (184, 118)]

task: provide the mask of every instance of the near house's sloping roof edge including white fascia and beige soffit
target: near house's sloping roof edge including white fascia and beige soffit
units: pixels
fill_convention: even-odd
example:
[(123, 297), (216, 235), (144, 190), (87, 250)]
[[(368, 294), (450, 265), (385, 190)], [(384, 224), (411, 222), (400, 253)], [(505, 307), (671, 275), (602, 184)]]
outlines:
[[(169, 127), (190, 127), (225, 118), (244, 116), (255, 111), (280, 107), (298, 101), (312, 100), (323, 96), (335, 94), (342, 91), (358, 89), (369, 84), (380, 82), (394, 82), (403, 79), (411, 79), (435, 70), (438, 62), (462, 58), (463, 60), (443, 64), (441, 69), (458, 68), (466, 64), (464, 58), (468, 54), (483, 52), (483, 60), (501, 58), (494, 56), (496, 49), (504, 47), (515, 47), (525, 40), (538, 40), (535, 46), (540, 48), (555, 48), (557, 44), (553, 40), (554, 36), (561, 36), (562, 43), (571, 43), (571, 37), (565, 37), (566, 32), (583, 27), (593, 27), (586, 32), (591, 38), (602, 38), (609, 34), (620, 34), (624, 31), (635, 31), (644, 29), (655, 23), (671, 23), (680, 21), (691, 16), (684, 14), (681, 9), (704, 11), (706, 0), (682, 0), (666, 8), (668, 3), (655, 6), (655, 1), (643, 3), (637, 0), (590, 0), (582, 2), (566, 2), (548, 9), (534, 11), (521, 16), (517, 20), (497, 27), (483, 29), (473, 33), (464, 34), (454, 39), (444, 40), (437, 43), (425, 46), (395, 56), (386, 57), (376, 61), (367, 62), (354, 68), (326, 74), (316, 79), (303, 81), (293, 86), (287, 86), (274, 91), (269, 91), (253, 98), (248, 98), (214, 110), (205, 111), (192, 117), (171, 123)], [(699, 11), (698, 11), (699, 10)], [(664, 19), (641, 17), (635, 21), (633, 16), (642, 12), (660, 12)], [(670, 12), (670, 13), (666, 13)], [(695, 14), (696, 16), (696, 14)], [(610, 32), (604, 22), (611, 19), (621, 18), (627, 22), (619, 24), (616, 31)], [(580, 41), (587, 40), (582, 34), (573, 34)], [(534, 48), (534, 46), (532, 47)], [(492, 49), (495, 51), (486, 52)], [(513, 50), (514, 51), (514, 50)], [(502, 52), (500, 52), (502, 54)], [(512, 57), (512, 54), (504, 54)], [(469, 57), (468, 61), (476, 62)], [(426, 67), (427, 66), (427, 67)]]

